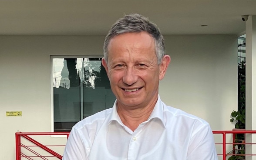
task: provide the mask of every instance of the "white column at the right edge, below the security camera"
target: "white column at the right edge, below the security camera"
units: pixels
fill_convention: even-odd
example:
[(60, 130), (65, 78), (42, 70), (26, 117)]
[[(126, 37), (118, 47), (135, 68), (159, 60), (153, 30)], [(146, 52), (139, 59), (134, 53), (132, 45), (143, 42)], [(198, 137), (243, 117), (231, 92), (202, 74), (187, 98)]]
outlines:
[[(246, 21), (246, 130), (256, 130), (256, 16)], [(246, 143), (250, 142), (256, 143), (256, 134), (246, 136)], [(256, 154), (256, 146), (246, 145), (246, 153)]]

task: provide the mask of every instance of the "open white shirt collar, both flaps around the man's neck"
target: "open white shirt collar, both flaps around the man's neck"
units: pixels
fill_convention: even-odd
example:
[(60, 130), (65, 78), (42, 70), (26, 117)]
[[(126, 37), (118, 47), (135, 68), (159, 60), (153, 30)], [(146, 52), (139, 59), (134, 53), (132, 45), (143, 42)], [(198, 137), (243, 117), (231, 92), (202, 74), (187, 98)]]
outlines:
[[(115, 103), (113, 105), (113, 110), (112, 110), (111, 117), (110, 117), (110, 119), (108, 121), (108, 125), (111, 122), (116, 121), (121, 126), (124, 126), (124, 124), (122, 123), (120, 117), (118, 116), (116, 103), (117, 103), (117, 100), (115, 100)], [(164, 127), (166, 127), (165, 123), (164, 123), (164, 106), (163, 106), (162, 100), (160, 99), (159, 95), (158, 95), (158, 100), (155, 103), (154, 110), (152, 111), (151, 115), (149, 116), (147, 122), (152, 120), (152, 119), (155, 119), (155, 118), (161, 120), (161, 122), (163, 123)]]

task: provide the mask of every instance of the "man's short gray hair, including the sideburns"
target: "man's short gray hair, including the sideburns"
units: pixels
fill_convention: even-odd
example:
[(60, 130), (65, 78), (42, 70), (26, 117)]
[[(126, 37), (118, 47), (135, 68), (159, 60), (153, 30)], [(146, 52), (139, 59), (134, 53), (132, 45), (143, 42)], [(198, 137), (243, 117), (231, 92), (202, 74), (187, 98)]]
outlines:
[(143, 31), (147, 32), (154, 39), (157, 63), (160, 64), (162, 57), (165, 55), (164, 38), (155, 23), (152, 23), (148, 18), (140, 14), (126, 15), (113, 24), (104, 41), (104, 58), (106, 62), (108, 63), (108, 44), (111, 38), (123, 33)]

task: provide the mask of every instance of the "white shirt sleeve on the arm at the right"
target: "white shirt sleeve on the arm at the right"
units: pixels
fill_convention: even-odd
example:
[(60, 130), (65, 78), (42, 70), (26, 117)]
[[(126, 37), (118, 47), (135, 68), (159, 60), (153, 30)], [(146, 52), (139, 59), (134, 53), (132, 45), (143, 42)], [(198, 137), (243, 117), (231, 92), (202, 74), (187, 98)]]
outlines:
[(213, 133), (209, 125), (204, 125), (192, 135), (187, 160), (218, 160)]

